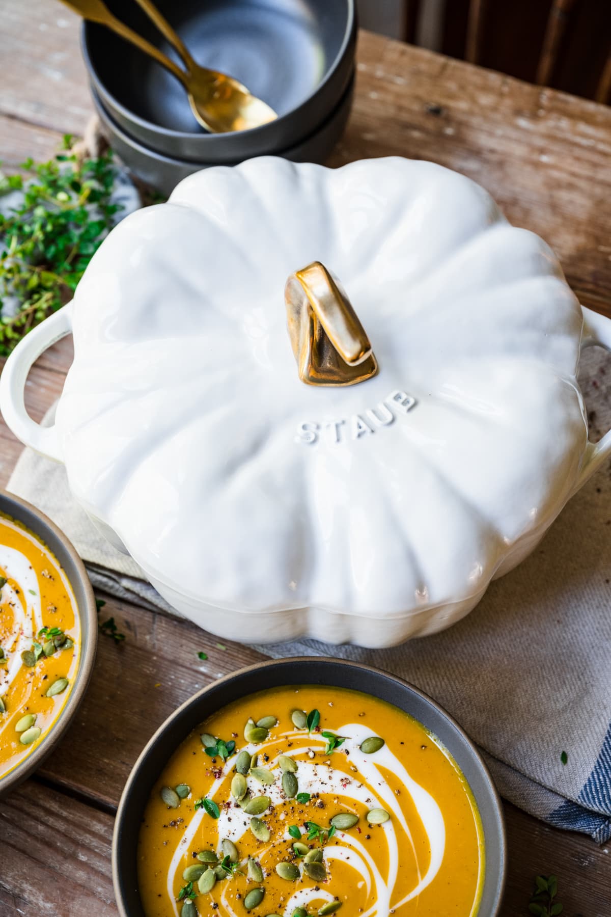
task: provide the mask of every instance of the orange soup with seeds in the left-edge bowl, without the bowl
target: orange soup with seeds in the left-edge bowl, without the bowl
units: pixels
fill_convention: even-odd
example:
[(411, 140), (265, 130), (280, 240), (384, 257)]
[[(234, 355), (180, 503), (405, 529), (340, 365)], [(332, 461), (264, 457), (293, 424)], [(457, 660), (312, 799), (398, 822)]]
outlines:
[(0, 779), (58, 719), (79, 653), (77, 606), (58, 560), (0, 514)]

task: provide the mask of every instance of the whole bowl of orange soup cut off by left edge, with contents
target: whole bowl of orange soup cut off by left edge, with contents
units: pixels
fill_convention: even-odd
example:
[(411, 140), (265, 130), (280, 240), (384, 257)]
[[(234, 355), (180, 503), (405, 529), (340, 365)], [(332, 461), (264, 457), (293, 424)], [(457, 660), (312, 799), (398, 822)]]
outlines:
[(96, 643), (81, 558), (36, 507), (0, 492), (0, 796), (60, 741)]

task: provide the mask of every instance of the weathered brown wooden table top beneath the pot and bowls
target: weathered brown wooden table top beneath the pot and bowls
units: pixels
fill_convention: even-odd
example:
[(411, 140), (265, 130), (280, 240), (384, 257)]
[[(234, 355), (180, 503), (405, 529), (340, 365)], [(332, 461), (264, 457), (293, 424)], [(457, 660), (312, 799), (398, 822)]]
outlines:
[[(0, 160), (49, 158), (91, 114), (75, 17), (53, 0), (0, 0)], [(611, 109), (362, 34), (355, 108), (331, 165), (385, 155), (428, 159), (483, 184), (518, 226), (558, 252), (582, 303), (611, 315)], [(59, 396), (66, 341), (32, 370), (39, 419)], [(21, 445), (0, 425), (0, 484)], [(219, 646), (192, 624), (109, 599), (127, 636), (100, 636), (91, 687), (38, 774), (0, 804), (0, 917), (110, 917), (114, 813), (158, 724), (211, 680), (263, 657)], [(197, 650), (208, 654), (200, 662)], [(611, 856), (506, 803), (503, 917), (528, 914), (533, 877), (555, 873), (567, 917), (611, 915)], [(442, 917), (442, 915), (440, 915)]]

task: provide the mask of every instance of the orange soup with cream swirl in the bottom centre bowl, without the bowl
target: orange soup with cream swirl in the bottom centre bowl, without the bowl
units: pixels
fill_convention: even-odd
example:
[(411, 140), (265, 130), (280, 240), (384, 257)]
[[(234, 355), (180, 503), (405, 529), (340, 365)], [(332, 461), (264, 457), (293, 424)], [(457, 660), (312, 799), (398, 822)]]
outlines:
[(214, 713), (169, 759), (140, 828), (147, 917), (470, 917), (483, 831), (420, 723), (304, 686)]

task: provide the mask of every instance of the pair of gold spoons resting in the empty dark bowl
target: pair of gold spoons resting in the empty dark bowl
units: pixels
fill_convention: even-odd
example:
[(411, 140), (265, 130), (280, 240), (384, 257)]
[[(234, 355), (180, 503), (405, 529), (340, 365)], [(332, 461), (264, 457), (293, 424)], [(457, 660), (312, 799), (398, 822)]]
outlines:
[(259, 127), (277, 117), (269, 105), (250, 94), (246, 87), (233, 77), (200, 67), (193, 61), (191, 53), (182, 40), (150, 0), (137, 0), (137, 3), (178, 51), (181, 60), (187, 66), (186, 72), (155, 45), (143, 39), (132, 28), (125, 26), (111, 13), (103, 0), (61, 0), (61, 2), (69, 6), (75, 13), (79, 13), (83, 19), (89, 19), (91, 22), (98, 22), (111, 28), (122, 39), (136, 45), (136, 48), (144, 51), (172, 73), (187, 90), (193, 115), (202, 127), (213, 134)]

